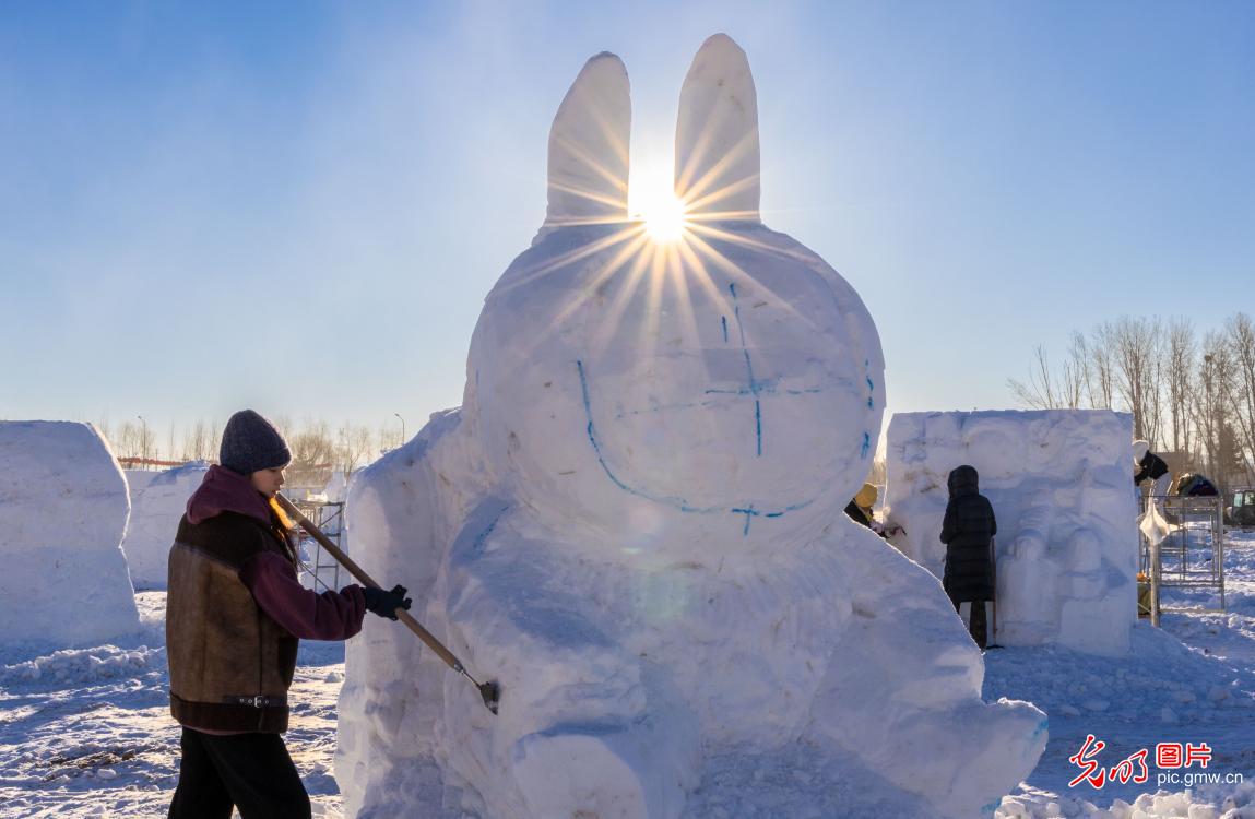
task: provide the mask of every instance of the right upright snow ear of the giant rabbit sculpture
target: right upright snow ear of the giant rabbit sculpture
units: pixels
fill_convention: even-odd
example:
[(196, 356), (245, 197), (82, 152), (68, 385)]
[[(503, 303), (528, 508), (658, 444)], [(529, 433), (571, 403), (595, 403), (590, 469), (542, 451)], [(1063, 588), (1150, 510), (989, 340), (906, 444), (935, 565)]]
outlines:
[(702, 44), (675, 125), (675, 194), (695, 219), (758, 218), (758, 94), (749, 60), (727, 34)]

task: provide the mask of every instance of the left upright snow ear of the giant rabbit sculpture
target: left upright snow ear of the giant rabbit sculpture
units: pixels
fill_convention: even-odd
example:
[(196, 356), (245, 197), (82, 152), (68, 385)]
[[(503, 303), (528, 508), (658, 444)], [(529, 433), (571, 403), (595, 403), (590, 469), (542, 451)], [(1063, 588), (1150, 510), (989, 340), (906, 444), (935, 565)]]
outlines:
[(602, 51), (584, 64), (550, 129), (545, 228), (626, 221), (630, 130), (628, 71)]

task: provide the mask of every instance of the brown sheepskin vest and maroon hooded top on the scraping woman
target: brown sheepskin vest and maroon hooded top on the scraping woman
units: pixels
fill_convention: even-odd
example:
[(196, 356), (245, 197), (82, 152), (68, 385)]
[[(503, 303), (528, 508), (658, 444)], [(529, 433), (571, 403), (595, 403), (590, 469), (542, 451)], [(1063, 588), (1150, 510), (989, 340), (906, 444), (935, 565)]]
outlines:
[(361, 628), (360, 587), (301, 587), (279, 514), (221, 467), (188, 500), (166, 597), (171, 714), (184, 727), (286, 731), (297, 637), (345, 640)]

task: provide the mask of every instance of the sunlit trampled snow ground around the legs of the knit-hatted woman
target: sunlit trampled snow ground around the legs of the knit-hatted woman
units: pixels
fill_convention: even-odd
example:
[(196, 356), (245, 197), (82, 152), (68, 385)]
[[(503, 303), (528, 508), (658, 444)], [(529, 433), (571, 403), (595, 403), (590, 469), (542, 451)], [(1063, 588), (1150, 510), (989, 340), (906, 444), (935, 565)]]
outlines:
[[(0, 816), (166, 815), (179, 755), (166, 592), (139, 592), (136, 602), (143, 631), (119, 645), (0, 646)], [(297, 663), (289, 750), (314, 815), (339, 816), (331, 759), (344, 643), (302, 641)]]

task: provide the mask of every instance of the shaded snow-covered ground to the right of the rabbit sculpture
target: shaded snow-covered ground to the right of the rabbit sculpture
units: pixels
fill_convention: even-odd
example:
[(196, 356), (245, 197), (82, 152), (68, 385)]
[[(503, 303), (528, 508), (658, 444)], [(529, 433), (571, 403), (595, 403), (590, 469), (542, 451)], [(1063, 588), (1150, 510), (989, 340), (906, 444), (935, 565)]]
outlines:
[[(1201, 562), (1200, 541), (1191, 532), (1192, 559)], [(1226, 544), (1227, 611), (1205, 611), (1219, 608), (1210, 591), (1165, 592), (1165, 606), (1175, 608), (1163, 613), (1162, 630), (1146, 621), (1135, 627), (1127, 658), (1059, 648), (986, 652), (985, 697), (1030, 700), (1050, 716), (1045, 753), (1028, 781), (1003, 800), (999, 816), (1255, 816), (1255, 533), (1230, 532)], [(1101, 789), (1088, 781), (1069, 788), (1083, 773), (1069, 758), (1089, 734), (1106, 742), (1091, 758), (1108, 770), (1107, 781)], [(1207, 768), (1157, 768), (1156, 746), (1175, 742), (1205, 742)], [(1148, 780), (1112, 781), (1109, 769), (1142, 749)], [(1161, 775), (1173, 774), (1181, 784), (1157, 786)], [(1187, 774), (1220, 783), (1187, 791)], [(1237, 775), (1242, 784), (1225, 781)]]

